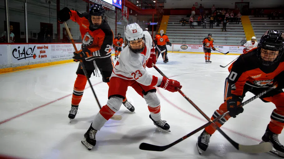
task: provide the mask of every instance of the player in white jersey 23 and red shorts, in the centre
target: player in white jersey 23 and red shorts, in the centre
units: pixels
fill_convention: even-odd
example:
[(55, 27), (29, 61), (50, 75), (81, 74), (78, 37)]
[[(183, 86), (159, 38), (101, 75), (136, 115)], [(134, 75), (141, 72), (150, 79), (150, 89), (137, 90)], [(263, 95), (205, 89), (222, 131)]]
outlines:
[(96, 144), (95, 135), (97, 131), (120, 109), (128, 86), (135, 89), (145, 99), (150, 112), (149, 117), (154, 125), (170, 131), (169, 124), (165, 120), (161, 120), (160, 100), (155, 93), (155, 87), (176, 92), (176, 89), (180, 89), (182, 86), (176, 80), (149, 75), (145, 70), (146, 66), (152, 67), (152, 63), (156, 63), (154, 49), (151, 52), (153, 41), (148, 31), (143, 31), (136, 23), (127, 25), (125, 41), (125, 48), (122, 50), (110, 76), (109, 100), (95, 116), (90, 128), (84, 134), (82, 144), (88, 150), (91, 150)]

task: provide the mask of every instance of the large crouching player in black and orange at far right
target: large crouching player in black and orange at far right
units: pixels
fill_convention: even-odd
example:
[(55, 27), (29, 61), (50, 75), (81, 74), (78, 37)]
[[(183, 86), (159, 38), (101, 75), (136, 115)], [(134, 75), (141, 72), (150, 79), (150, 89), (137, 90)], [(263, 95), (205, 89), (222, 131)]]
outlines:
[[(230, 117), (235, 118), (243, 112), (238, 105), (242, 103), (247, 92), (255, 95), (277, 85), (276, 89), (260, 97), (263, 102), (272, 102), (273, 110), (262, 142), (272, 143), (279, 156), (284, 157), (284, 147), (278, 140), (278, 134), (284, 127), (284, 33), (278, 30), (268, 30), (260, 39), (257, 48), (240, 55), (230, 67), (230, 74), (226, 78), (224, 103), (213, 113), (211, 120), (229, 111), (229, 115), (215, 122), (221, 127)], [(215, 125), (209, 125), (198, 137), (196, 143), (201, 154), (208, 148), (211, 135), (215, 132)]]

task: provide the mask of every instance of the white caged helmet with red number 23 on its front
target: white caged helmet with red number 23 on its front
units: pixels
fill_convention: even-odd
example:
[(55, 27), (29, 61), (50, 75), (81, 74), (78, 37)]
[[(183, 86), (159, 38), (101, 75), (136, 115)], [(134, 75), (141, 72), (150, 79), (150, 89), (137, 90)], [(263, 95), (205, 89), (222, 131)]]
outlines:
[(141, 53), (146, 46), (145, 35), (137, 23), (126, 26), (125, 40), (129, 49), (134, 53)]

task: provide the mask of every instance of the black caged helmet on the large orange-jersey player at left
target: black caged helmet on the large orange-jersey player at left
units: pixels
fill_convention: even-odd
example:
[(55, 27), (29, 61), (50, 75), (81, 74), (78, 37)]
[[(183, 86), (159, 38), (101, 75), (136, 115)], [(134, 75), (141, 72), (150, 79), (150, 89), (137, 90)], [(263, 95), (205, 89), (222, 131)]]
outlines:
[(93, 24), (91, 17), (92, 16), (101, 16), (101, 24), (104, 22), (105, 20), (105, 9), (103, 8), (103, 6), (100, 4), (94, 4), (92, 5), (91, 9), (89, 10), (89, 23), (91, 28), (93, 29), (97, 29), (100, 27), (100, 25), (98, 24)]

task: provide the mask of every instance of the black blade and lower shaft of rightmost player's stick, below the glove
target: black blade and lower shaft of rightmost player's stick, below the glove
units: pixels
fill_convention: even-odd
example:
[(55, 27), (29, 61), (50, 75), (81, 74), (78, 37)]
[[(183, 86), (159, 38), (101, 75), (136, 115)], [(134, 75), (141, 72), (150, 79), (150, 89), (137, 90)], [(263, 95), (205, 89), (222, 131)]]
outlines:
[[(218, 121), (219, 119), (222, 119), (222, 118), (223, 118), (224, 116), (226, 116), (228, 113), (229, 113), (229, 112), (226, 112), (226, 113), (224, 113), (222, 116), (218, 116), (218, 117), (217, 117), (216, 119), (214, 119), (212, 122), (216, 122), (216, 121)], [(141, 143), (140, 146), (139, 146), (139, 148), (140, 148), (141, 150), (148, 150), (148, 151), (164, 151), (164, 150), (166, 150), (166, 149), (168, 149), (168, 148), (174, 146), (175, 144), (177, 144), (177, 143), (183, 141), (184, 139), (186, 139), (186, 138), (192, 136), (193, 134), (197, 133), (198, 131), (204, 129), (205, 127), (209, 126), (210, 124), (211, 124), (211, 122), (208, 122), (208, 123), (202, 125), (201, 127), (199, 127), (198, 129), (195, 129), (195, 130), (192, 131), (191, 133), (189, 133), (189, 134), (183, 136), (182, 138), (180, 138), (180, 139), (176, 140), (175, 142), (170, 143), (170, 144), (168, 144), (168, 145), (165, 145), (165, 146), (157, 146), (157, 145), (152, 145), (152, 144), (149, 144), (149, 143)]]

